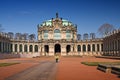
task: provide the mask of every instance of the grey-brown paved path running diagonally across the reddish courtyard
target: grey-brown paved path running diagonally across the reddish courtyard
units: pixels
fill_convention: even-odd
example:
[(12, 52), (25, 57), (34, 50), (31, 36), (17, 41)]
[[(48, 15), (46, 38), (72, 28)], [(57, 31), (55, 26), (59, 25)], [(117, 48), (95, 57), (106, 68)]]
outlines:
[(37, 66), (10, 76), (5, 80), (55, 80), (56, 69), (55, 61), (41, 61)]

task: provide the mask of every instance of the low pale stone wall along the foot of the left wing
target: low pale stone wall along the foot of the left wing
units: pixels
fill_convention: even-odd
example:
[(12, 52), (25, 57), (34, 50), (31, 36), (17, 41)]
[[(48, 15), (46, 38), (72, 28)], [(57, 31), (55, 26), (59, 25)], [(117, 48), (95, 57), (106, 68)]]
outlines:
[(9, 58), (33, 58), (40, 56), (39, 53), (18, 53), (18, 54), (8, 54), (8, 53), (0, 53), (0, 59), (9, 59)]

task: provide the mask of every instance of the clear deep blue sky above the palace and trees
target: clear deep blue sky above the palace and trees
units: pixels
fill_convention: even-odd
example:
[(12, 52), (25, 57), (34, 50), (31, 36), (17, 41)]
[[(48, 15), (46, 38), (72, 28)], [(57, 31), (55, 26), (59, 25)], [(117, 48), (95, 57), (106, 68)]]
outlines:
[(120, 0), (0, 0), (4, 32), (37, 34), (37, 24), (59, 17), (78, 25), (78, 33), (97, 33), (104, 24), (120, 28)]

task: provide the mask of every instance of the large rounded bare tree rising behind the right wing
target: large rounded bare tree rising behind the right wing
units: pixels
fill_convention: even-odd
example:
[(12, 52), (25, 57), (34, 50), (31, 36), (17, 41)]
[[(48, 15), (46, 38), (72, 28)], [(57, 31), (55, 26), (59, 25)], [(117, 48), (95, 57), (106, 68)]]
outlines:
[(114, 30), (113, 25), (105, 23), (103, 25), (100, 26), (100, 28), (98, 29), (98, 32), (103, 36), (107, 36), (111, 31)]

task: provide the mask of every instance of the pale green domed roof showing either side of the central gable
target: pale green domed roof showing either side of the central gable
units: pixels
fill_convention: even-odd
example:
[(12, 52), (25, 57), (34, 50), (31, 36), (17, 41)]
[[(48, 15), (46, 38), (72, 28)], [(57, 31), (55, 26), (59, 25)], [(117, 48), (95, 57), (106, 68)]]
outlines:
[[(42, 26), (52, 26), (52, 20), (47, 20), (45, 22), (42, 23)], [(68, 26), (68, 25), (72, 25), (72, 23), (68, 20), (62, 19), (62, 25), (63, 26)]]

